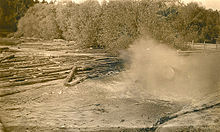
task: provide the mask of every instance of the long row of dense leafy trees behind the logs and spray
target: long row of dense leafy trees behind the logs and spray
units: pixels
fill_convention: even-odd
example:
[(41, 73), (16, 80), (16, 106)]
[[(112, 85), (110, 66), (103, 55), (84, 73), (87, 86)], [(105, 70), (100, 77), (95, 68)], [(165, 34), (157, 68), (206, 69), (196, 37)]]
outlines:
[(179, 0), (96, 1), (36, 4), (18, 23), (17, 36), (73, 40), (82, 46), (114, 51), (146, 34), (172, 47), (182, 42), (215, 42), (220, 14)]

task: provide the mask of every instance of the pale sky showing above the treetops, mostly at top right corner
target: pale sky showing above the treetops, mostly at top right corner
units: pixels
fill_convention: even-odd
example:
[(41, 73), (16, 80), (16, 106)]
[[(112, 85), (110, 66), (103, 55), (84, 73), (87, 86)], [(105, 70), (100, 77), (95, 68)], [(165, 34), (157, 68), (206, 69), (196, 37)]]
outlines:
[[(40, 0), (42, 1), (42, 0)], [(51, 0), (46, 0), (48, 2), (50, 2)], [(54, 1), (54, 0), (52, 0)], [(59, 0), (59, 1), (62, 1), (62, 0)], [(85, 0), (73, 0), (77, 3), (80, 3), (82, 1), (85, 1)], [(102, 0), (98, 0), (99, 2), (102, 1)], [(184, 3), (188, 3), (188, 2), (192, 2), (192, 1), (195, 1), (195, 2), (199, 2), (201, 5), (205, 6), (207, 9), (211, 8), (211, 9), (214, 9), (214, 10), (220, 10), (220, 0), (182, 0)]]

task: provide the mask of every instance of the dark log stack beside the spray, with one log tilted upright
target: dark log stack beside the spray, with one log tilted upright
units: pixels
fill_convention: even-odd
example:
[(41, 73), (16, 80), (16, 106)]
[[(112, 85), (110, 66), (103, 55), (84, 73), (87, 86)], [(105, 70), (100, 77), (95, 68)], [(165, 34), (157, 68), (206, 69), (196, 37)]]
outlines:
[(64, 81), (65, 86), (74, 86), (88, 78), (100, 77), (113, 73), (114, 71), (120, 71), (123, 69), (122, 60), (114, 58), (98, 58), (93, 59), (90, 64), (84, 64), (84, 66), (73, 66), (68, 76)]

